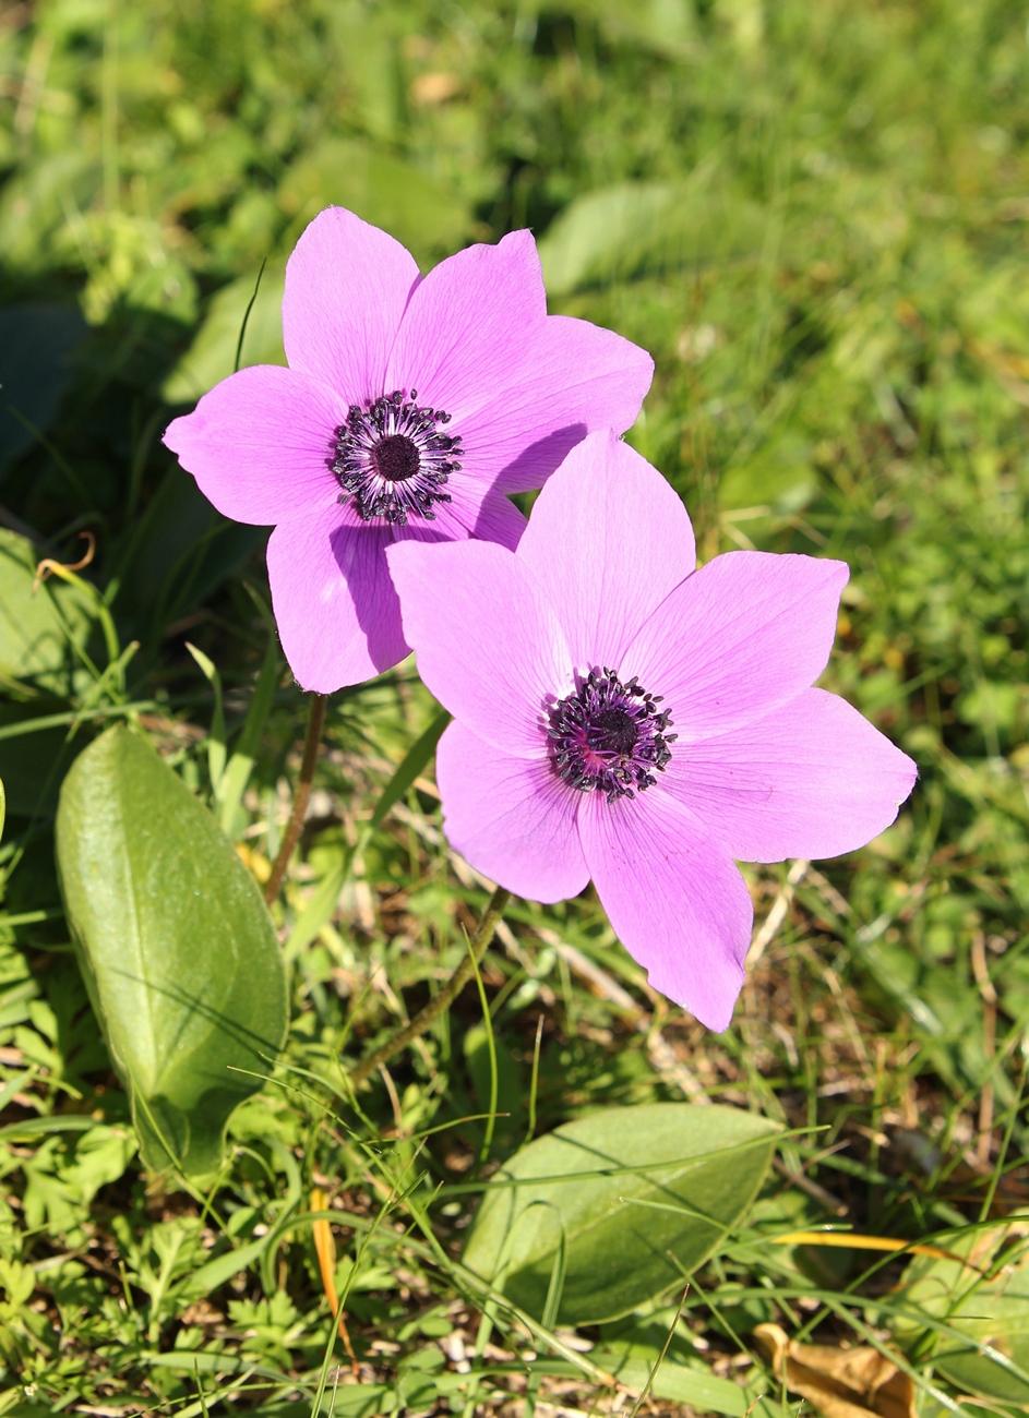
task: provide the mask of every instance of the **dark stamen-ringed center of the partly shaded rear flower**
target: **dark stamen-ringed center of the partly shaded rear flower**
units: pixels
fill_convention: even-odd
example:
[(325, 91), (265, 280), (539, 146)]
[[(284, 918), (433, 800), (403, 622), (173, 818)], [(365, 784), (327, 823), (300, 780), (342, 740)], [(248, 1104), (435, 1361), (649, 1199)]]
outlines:
[(450, 502), (440, 488), (460, 472), (461, 440), (440, 431), (450, 414), (420, 407), (417, 397), (396, 389), (365, 408), (352, 404), (336, 428), (329, 465), (343, 489), (339, 501), (352, 496), (365, 522), (405, 526), (412, 515), (431, 522), (433, 503)]

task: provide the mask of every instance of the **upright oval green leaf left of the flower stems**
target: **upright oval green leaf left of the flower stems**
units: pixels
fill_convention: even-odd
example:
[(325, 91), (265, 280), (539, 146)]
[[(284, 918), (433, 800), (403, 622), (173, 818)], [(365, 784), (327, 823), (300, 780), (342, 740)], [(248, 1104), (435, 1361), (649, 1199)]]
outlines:
[(214, 818), (125, 727), (68, 773), (57, 861), (143, 1160), (210, 1173), (230, 1113), (285, 1037), (285, 968), (261, 895)]

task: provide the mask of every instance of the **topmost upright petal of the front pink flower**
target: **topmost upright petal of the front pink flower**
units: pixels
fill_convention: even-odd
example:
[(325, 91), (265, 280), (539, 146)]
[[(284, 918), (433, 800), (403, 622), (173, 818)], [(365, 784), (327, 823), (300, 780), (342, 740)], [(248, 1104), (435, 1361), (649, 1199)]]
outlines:
[(546, 482), (518, 546), (565, 631), (576, 669), (622, 662), (650, 613), (695, 566), (671, 485), (609, 430)]

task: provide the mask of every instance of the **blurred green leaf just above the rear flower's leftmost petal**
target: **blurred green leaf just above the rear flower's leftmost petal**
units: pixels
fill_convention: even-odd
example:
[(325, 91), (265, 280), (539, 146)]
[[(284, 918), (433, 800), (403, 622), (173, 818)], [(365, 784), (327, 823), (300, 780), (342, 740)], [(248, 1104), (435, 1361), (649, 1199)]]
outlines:
[(236, 366), (244, 319), (247, 328), (240, 349), (240, 369), (248, 364), (285, 364), (284, 288), (285, 274), (281, 267), (268, 267), (260, 285), (254, 271), (223, 286), (213, 298), (196, 339), (165, 380), (162, 397), (169, 404), (192, 404), (223, 379), (229, 379)]

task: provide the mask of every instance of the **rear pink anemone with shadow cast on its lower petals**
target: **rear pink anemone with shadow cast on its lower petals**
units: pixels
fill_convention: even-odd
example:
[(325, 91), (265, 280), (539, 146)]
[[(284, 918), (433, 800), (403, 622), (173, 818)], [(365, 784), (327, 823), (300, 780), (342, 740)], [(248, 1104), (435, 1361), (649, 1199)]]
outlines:
[(624, 430), (653, 362), (546, 313), (531, 233), (424, 279), (385, 231), (322, 211), (285, 271), (288, 369), (223, 380), (165, 442), (226, 516), (274, 525), (271, 596), (290, 668), (331, 693), (407, 654), (386, 547), (518, 543), (507, 493), (538, 488), (595, 428)]

